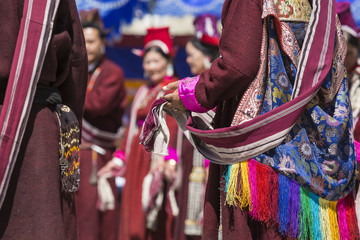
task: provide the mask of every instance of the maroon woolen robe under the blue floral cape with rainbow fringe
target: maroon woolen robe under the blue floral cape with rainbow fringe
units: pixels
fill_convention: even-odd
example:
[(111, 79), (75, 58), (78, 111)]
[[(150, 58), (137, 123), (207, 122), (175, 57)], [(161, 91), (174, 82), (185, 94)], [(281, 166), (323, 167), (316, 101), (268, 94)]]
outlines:
[[(260, 65), (262, 40), (261, 0), (226, 0), (223, 5), (220, 55), (211, 68), (200, 75), (195, 97), (201, 106), (217, 106), (214, 125), (228, 127), (249, 83)], [(203, 239), (218, 239), (220, 214), (223, 239), (281, 239), (275, 227), (252, 220), (247, 211), (224, 204), (224, 167), (210, 164), (207, 184)], [(220, 184), (220, 182), (222, 182)], [(221, 203), (220, 203), (221, 195)], [(221, 206), (221, 211), (220, 211)]]

